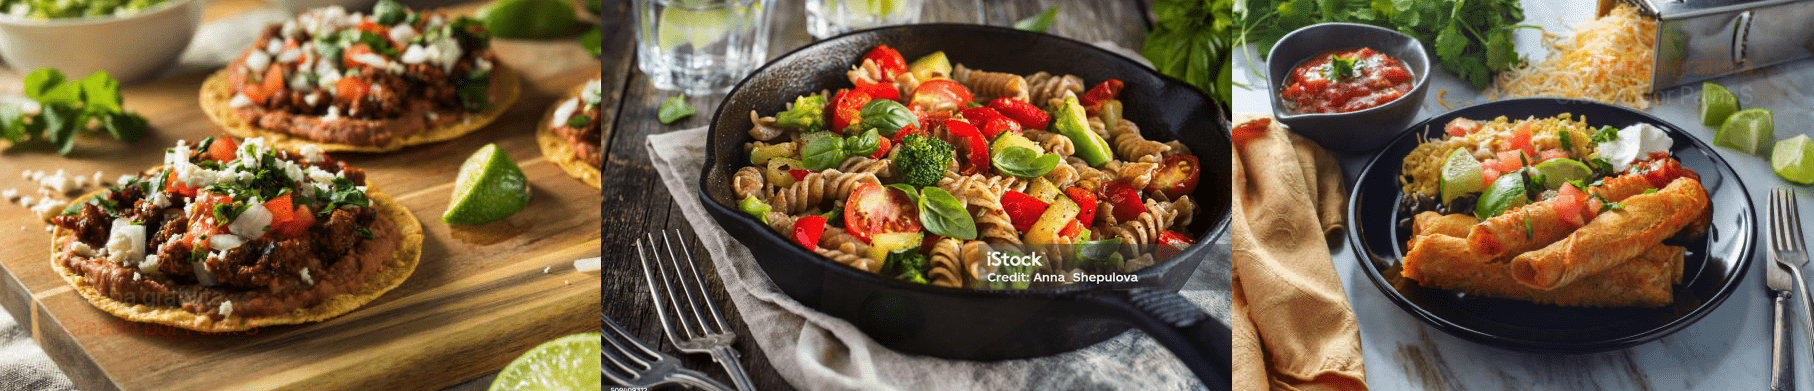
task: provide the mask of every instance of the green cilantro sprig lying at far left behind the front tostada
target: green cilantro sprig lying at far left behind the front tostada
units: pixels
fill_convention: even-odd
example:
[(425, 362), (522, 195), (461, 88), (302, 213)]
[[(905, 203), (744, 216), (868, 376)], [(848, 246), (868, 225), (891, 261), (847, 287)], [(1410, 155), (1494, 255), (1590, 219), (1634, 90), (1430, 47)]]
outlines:
[(18, 105), (0, 107), (0, 139), (11, 143), (45, 141), (56, 154), (76, 148), (76, 134), (107, 132), (120, 141), (138, 141), (147, 121), (127, 112), (120, 98), (120, 80), (96, 71), (82, 80), (65, 80), (56, 69), (38, 69), (25, 76), (25, 98), (36, 112)]

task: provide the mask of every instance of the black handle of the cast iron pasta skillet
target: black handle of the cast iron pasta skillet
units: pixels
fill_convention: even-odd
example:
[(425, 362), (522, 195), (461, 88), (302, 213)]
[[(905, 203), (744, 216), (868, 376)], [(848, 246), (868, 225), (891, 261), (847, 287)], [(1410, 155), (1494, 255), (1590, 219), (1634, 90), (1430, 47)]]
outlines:
[(1114, 319), (1152, 335), (1210, 389), (1230, 389), (1232, 331), (1177, 291), (1136, 288), (1087, 295)]

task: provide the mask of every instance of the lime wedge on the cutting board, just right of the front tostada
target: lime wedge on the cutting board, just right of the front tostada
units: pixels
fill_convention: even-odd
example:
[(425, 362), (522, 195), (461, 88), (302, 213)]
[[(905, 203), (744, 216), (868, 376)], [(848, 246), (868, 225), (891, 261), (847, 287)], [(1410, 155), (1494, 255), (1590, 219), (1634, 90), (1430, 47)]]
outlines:
[(454, 199), (441, 215), (448, 224), (483, 224), (510, 217), (530, 205), (530, 181), (497, 145), (484, 145), (459, 165)]

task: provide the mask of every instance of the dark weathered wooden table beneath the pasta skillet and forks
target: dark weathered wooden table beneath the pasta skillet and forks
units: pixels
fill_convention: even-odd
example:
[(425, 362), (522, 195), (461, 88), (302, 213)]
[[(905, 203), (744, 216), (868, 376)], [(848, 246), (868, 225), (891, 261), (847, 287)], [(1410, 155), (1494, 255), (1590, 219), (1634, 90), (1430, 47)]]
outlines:
[[(1152, 25), (1148, 0), (929, 0), (922, 13), (922, 22), (952, 24), (989, 24), (1012, 25), (1016, 20), (1038, 14), (1058, 5), (1058, 22), (1048, 33), (1081, 42), (1114, 42), (1126, 49), (1139, 49)], [(802, 2), (778, 2), (773, 9), (769, 58), (785, 54), (796, 47), (813, 43), (805, 33), (805, 9)], [(615, 319), (646, 342), (660, 346), (668, 355), (680, 357), (686, 367), (702, 371), (718, 382), (731, 384), (724, 367), (706, 355), (684, 355), (662, 335), (660, 320), (651, 308), (649, 288), (639, 266), (635, 239), (653, 230), (680, 228), (691, 232), (680, 208), (660, 185), (660, 177), (649, 163), (644, 147), (649, 134), (662, 134), (680, 129), (704, 127), (711, 112), (718, 109), (724, 94), (688, 96), (688, 103), (698, 109), (693, 118), (662, 125), (655, 119), (657, 107), (678, 92), (657, 91), (637, 69), (635, 60), (635, 20), (629, 2), (610, 4), (604, 9), (604, 203), (611, 205), (602, 215), (604, 230), (602, 253), (604, 268), (604, 315)], [(742, 319), (717, 273), (707, 270), (706, 286), (713, 300), (726, 304), (727, 315)], [(775, 371), (769, 357), (749, 339), (744, 322), (733, 322), (742, 339), (736, 349), (742, 351), (742, 364), (758, 389), (795, 389)]]

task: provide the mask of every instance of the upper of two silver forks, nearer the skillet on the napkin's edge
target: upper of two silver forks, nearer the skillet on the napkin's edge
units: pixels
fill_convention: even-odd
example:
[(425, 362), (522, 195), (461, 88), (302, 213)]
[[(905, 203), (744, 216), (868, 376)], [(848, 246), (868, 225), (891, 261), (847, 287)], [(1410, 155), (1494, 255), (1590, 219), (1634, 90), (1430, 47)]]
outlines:
[[(678, 232), (675, 235), (682, 241), (678, 252), (675, 252), (675, 243), (666, 230), (660, 243), (655, 241), (655, 234), (648, 234), (648, 241), (637, 241), (642, 275), (649, 281), (649, 295), (655, 299), (655, 311), (662, 317), (668, 340), (686, 353), (709, 353), (711, 360), (717, 360), (731, 375), (736, 389), (755, 389), (749, 375), (744, 373), (744, 364), (736, 362), (736, 349), (731, 348), (736, 333), (731, 331), (731, 324), (724, 322), (718, 304), (706, 295), (706, 282), (698, 277), (698, 268), (693, 266), (693, 250), (686, 246), (686, 235)], [(668, 250), (666, 257), (662, 250)], [(686, 253), (686, 257), (678, 253)], [(686, 259), (686, 270), (682, 270), (682, 259)]]

